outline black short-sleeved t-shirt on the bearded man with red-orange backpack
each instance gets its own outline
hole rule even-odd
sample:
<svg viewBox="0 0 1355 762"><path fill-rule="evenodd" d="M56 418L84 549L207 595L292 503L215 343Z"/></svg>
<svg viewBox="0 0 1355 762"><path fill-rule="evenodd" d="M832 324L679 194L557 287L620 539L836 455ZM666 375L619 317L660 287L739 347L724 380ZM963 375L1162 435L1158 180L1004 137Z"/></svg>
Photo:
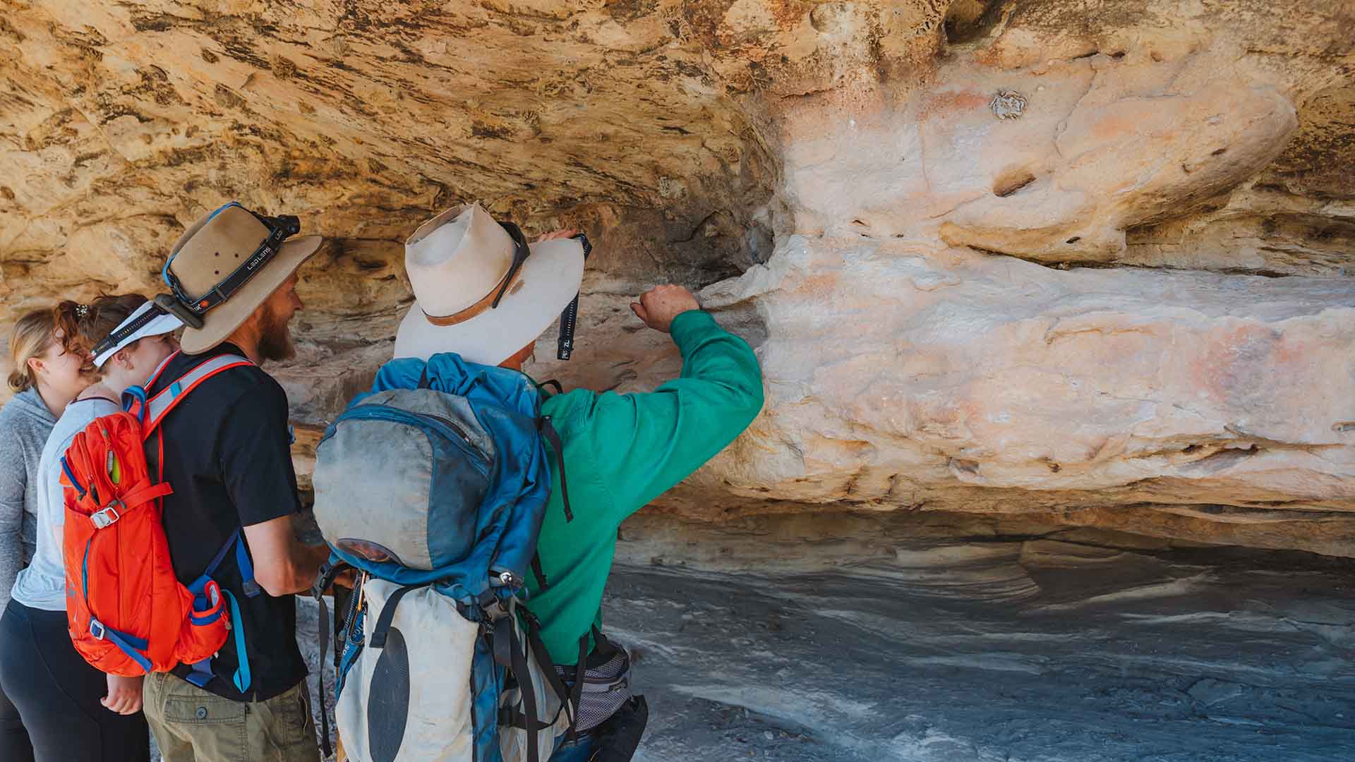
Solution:
<svg viewBox="0 0 1355 762"><path fill-rule="evenodd" d="M148 393L157 395L220 354L244 357L233 344L175 355ZM249 366L217 373L188 392L160 427L164 480L173 488L164 499L164 527L179 582L198 579L237 529L301 510L291 468L287 395L263 370ZM146 445L154 449L154 437ZM211 660L215 677L206 689L234 701L266 701L305 679L293 597L259 593L248 598L234 553L226 556L213 579L240 603L251 685L248 694L241 694L232 682L238 666L232 632ZM188 673L187 664L175 668L179 677Z"/></svg>

